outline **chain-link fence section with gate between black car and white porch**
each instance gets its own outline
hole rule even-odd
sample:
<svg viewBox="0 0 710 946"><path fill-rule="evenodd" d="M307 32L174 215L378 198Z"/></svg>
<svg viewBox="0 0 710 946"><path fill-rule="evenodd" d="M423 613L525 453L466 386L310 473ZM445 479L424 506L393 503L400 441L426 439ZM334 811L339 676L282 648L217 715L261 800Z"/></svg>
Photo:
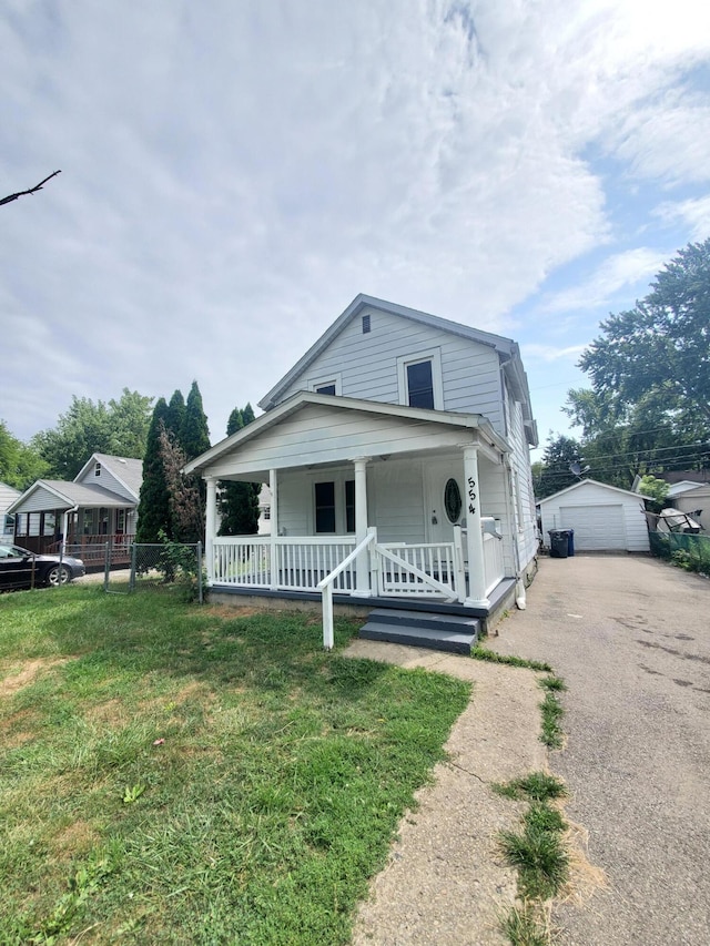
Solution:
<svg viewBox="0 0 710 946"><path fill-rule="evenodd" d="M112 568L105 549L103 589L111 594L131 594L144 589L172 589L186 601L204 600L202 542L133 542L123 568Z"/></svg>

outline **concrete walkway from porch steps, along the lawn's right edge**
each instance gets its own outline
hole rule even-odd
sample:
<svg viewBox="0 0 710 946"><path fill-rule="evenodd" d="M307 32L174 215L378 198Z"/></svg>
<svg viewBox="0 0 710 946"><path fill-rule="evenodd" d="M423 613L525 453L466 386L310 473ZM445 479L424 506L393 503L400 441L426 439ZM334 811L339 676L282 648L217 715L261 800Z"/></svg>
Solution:
<svg viewBox="0 0 710 946"><path fill-rule="evenodd" d="M456 721L434 784L404 818L387 867L359 911L355 946L503 946L499 920L516 895L516 876L496 844L518 828L525 806L501 798L491 782L545 766L538 736L542 698L529 670L399 644L355 641L346 655L422 667L469 680L471 701Z"/></svg>

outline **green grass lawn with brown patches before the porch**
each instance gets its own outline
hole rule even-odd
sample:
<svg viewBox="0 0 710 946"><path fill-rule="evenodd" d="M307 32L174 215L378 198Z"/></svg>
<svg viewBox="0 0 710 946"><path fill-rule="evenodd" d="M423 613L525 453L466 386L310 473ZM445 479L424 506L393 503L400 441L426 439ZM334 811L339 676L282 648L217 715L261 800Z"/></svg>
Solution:
<svg viewBox="0 0 710 946"><path fill-rule="evenodd" d="M1 596L0 943L347 943L469 686L321 641L169 591Z"/></svg>

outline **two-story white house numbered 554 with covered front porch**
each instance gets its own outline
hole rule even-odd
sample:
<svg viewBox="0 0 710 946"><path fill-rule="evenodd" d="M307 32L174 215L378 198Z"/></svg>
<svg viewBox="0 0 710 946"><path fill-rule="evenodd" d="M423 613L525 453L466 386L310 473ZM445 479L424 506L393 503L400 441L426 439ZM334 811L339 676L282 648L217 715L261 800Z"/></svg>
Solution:
<svg viewBox="0 0 710 946"><path fill-rule="evenodd" d="M313 592L347 560L341 594L523 599L537 430L515 342L359 295L260 406L185 466L207 482L213 588ZM225 479L267 484L270 536L216 536Z"/></svg>

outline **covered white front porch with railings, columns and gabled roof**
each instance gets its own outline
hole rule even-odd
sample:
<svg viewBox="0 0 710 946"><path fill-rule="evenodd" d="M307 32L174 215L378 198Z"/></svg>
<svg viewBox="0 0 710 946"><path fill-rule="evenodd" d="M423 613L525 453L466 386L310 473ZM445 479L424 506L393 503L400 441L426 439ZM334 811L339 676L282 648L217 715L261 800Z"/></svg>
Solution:
<svg viewBox="0 0 710 946"><path fill-rule="evenodd" d="M206 480L207 584L487 613L517 574L509 457L479 415L301 394L185 467ZM268 484L271 535L217 535L224 480Z"/></svg>

